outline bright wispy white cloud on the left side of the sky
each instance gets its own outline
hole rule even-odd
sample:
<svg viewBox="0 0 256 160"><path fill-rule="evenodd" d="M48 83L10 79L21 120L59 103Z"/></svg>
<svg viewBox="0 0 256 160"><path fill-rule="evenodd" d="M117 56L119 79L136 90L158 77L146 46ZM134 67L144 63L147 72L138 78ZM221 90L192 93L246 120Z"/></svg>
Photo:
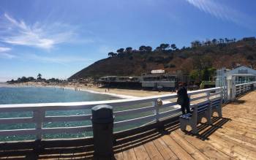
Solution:
<svg viewBox="0 0 256 160"><path fill-rule="evenodd" d="M50 49L54 45L70 42L75 37L75 28L65 23L33 23L16 20L4 13L1 25L1 42Z"/></svg>

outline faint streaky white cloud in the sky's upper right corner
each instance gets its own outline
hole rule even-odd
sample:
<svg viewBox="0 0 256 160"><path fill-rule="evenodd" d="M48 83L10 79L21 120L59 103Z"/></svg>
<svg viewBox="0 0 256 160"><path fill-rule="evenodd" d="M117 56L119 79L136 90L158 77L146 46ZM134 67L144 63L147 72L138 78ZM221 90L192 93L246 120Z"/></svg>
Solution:
<svg viewBox="0 0 256 160"><path fill-rule="evenodd" d="M240 26L245 26L246 28L251 28L252 18L249 15L245 15L243 12L228 7L225 4L218 3L213 0L186 0L189 4L192 4L197 9L206 12L216 18L227 20L236 23Z"/></svg>

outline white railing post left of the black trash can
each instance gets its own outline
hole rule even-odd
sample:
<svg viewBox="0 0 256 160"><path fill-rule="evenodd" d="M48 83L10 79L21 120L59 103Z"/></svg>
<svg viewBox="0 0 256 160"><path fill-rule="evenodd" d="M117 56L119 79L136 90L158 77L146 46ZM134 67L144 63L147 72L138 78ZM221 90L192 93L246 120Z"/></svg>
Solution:
<svg viewBox="0 0 256 160"><path fill-rule="evenodd" d="M44 110L34 110L34 121L36 123L36 129L37 129L37 140L42 140L42 123L45 118L45 111Z"/></svg>

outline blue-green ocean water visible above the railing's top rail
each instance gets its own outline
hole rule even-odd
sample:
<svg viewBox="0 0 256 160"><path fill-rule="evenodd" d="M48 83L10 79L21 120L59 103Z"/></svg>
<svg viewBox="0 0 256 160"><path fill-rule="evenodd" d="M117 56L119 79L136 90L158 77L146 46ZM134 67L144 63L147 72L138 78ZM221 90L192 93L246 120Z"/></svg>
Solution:
<svg viewBox="0 0 256 160"><path fill-rule="evenodd" d="M88 102L120 99L106 94L53 87L8 87L0 85L0 104Z"/></svg>

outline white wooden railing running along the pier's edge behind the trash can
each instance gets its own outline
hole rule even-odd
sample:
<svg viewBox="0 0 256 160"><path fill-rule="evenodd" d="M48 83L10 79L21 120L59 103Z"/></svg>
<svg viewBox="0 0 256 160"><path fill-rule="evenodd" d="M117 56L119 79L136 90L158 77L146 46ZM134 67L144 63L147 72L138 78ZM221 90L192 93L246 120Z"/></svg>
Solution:
<svg viewBox="0 0 256 160"><path fill-rule="evenodd" d="M191 104L196 104L207 99L222 96L222 88L209 88L189 92ZM34 123L31 129L0 130L0 137L11 135L36 135L41 140L44 134L78 134L91 132L91 107L98 104L109 104L114 107L114 129L123 131L161 121L181 114L180 106L176 104L176 94L162 96L148 96L132 99L118 99L98 102L67 102L67 103L42 103L42 104L1 104L0 113L30 112L30 117L0 118L0 124L13 125L20 123ZM162 99L162 106L157 105L157 99ZM87 110L88 114L82 115L48 115L48 112L69 112L74 110ZM67 123L72 121L87 121L83 126L45 127L45 123Z"/></svg>

